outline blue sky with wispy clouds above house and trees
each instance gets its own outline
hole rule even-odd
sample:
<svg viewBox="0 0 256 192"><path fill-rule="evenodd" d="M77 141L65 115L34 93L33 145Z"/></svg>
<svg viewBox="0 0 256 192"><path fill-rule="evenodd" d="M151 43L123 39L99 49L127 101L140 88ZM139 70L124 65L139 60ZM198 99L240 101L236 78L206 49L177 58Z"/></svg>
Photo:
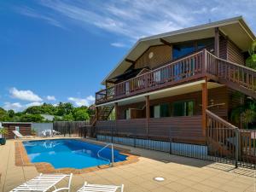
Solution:
<svg viewBox="0 0 256 192"><path fill-rule="evenodd" d="M256 1L1 0L0 107L90 105L138 38L242 15Z"/></svg>

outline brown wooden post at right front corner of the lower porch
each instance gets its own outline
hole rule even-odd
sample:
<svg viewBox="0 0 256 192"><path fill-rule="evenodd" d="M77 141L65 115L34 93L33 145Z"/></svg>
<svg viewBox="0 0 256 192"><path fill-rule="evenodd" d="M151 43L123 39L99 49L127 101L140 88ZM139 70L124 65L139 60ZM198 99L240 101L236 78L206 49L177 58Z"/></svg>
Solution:
<svg viewBox="0 0 256 192"><path fill-rule="evenodd" d="M207 79L205 83L201 84L201 111L202 111L202 132L206 136L207 131Z"/></svg>

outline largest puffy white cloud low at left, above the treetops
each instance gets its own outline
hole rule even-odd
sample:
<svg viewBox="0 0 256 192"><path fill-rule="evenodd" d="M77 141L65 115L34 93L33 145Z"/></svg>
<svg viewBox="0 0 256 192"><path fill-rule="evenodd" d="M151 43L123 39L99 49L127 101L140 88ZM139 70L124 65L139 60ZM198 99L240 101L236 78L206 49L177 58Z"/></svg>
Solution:
<svg viewBox="0 0 256 192"><path fill-rule="evenodd" d="M42 102L43 99L32 92L32 90L17 90L15 87L9 90L13 98L28 101L28 102Z"/></svg>

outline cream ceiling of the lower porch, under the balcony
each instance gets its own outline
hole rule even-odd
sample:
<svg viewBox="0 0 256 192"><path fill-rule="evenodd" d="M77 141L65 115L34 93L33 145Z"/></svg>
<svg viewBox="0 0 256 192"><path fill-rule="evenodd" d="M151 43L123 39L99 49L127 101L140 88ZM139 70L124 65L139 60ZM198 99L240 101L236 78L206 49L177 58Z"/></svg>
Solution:
<svg viewBox="0 0 256 192"><path fill-rule="evenodd" d="M156 91L153 91L150 93L145 93L145 94L142 94L139 96L131 96L131 97L128 97L125 99L120 99L120 100L114 101L114 102L118 102L119 106L122 106L122 105L127 105L130 103L143 102L143 101L145 101L145 96L149 96L149 99L153 100L153 99L164 98L167 96L178 96L178 95L182 95L182 94L192 93L192 92L200 91L201 84L204 82L205 82L205 80L200 80L200 81L196 81L196 82L189 83L189 84L182 84L182 85L178 85L175 87L166 88L164 90L156 90ZM213 83L213 82L207 83L207 89L213 89L213 88L217 88L217 87L221 87L221 86L224 86L224 85ZM108 103L104 103L104 104L101 104L98 106L114 105L114 102L108 102Z"/></svg>

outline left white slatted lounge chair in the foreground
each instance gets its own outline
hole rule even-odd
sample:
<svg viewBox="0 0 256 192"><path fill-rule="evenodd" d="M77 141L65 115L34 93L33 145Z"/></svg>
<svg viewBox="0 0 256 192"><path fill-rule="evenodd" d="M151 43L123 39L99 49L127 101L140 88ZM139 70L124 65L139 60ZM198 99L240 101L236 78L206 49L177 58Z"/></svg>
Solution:
<svg viewBox="0 0 256 192"><path fill-rule="evenodd" d="M66 188L59 188L56 189L55 185L59 183L65 177L69 177L68 185ZM53 192L67 190L70 191L70 185L72 180L73 174L64 175L64 174L40 174L38 177L34 177L26 183L21 184L19 187L12 189L10 192L18 192L18 191L40 191L45 192L51 188L55 190Z"/></svg>

